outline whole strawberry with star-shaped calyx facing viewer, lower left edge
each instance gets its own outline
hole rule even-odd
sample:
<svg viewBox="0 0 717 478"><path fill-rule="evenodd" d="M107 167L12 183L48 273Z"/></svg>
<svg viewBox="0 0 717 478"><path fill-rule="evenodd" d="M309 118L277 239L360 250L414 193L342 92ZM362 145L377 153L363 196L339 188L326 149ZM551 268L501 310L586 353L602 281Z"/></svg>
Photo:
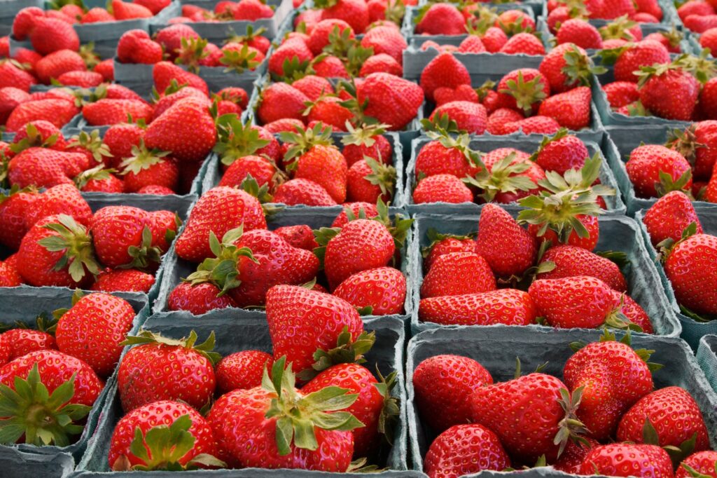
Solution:
<svg viewBox="0 0 717 478"><path fill-rule="evenodd" d="M0 402L13 423L2 427L4 440L35 446L70 445L104 386L89 365L57 350L7 363L0 368L0 383Z"/></svg>

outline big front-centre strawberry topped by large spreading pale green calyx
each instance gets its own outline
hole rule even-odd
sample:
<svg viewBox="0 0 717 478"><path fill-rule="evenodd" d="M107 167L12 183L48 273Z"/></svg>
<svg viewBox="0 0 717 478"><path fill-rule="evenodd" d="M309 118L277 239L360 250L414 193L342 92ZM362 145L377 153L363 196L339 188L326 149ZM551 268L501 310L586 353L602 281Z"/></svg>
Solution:
<svg viewBox="0 0 717 478"><path fill-rule="evenodd" d="M295 388L295 375L285 367L285 357L277 360L271 372L272 383L265 372L261 387L234 390L223 395L209 411L207 420L219 445L219 456L236 461L244 467L301 468L326 472L345 472L351 464L353 435L350 431L361 426L345 410L356 401L356 395L344 395L346 389L324 388L320 393L305 395ZM273 385L276 383L277 385ZM324 397L331 391L331 401ZM342 398L344 397L344 398ZM289 402L285 403L285 400ZM267 414L272 403L279 412ZM288 403L298 408L285 413ZM329 405L331 403L331 405ZM333 413L327 413L326 409ZM288 422L287 422L288 421ZM326 430L320 423L331 421ZM308 434L305 439L280 440L278 423L298 426L302 423ZM244 446L257 444L256 448Z"/></svg>

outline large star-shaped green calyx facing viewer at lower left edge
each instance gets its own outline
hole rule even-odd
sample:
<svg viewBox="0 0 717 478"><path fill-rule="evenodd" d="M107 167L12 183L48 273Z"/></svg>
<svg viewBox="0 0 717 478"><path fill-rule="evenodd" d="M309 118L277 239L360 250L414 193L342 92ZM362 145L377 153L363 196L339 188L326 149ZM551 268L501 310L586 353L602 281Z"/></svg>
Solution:
<svg viewBox="0 0 717 478"><path fill-rule="evenodd" d="M14 389L0 384L0 443L14 444L24 435L27 444L70 445L82 433L77 422L90 413L90 407L71 403L75 375L49 393L34 364L26 379L14 378Z"/></svg>

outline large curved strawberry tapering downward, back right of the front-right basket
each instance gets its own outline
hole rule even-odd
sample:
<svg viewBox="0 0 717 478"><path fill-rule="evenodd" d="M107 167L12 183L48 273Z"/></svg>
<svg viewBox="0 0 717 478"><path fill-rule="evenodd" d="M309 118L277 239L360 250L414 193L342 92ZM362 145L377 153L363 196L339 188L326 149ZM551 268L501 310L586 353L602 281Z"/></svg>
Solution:
<svg viewBox="0 0 717 478"><path fill-rule="evenodd" d="M565 363L563 378L571 391L584 387L577 416L596 440L612 436L622 414L653 388L647 363L620 342L578 350Z"/></svg>

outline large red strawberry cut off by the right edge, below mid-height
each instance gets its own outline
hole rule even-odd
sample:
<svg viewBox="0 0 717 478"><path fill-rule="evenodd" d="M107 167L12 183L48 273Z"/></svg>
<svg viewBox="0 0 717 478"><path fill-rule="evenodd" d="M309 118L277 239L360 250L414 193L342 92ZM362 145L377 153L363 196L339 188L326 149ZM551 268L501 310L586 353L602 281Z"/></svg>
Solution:
<svg viewBox="0 0 717 478"><path fill-rule="evenodd" d="M717 313L713 271L717 270L717 238L696 234L678 243L665 261L678 303L697 314Z"/></svg>

